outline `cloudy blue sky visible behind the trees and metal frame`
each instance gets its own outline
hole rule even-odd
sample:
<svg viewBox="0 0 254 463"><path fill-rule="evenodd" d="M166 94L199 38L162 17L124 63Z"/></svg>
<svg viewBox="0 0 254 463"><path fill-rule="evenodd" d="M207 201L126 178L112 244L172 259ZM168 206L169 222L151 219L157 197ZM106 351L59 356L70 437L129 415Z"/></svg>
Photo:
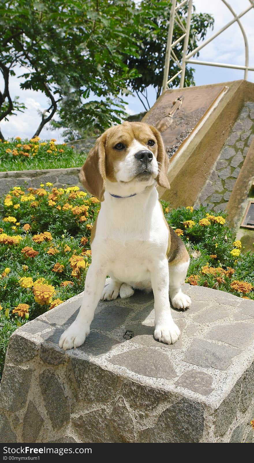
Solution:
<svg viewBox="0 0 254 463"><path fill-rule="evenodd" d="M228 3L236 13L242 12L250 5L249 0L228 0ZM193 4L196 7L197 12L211 13L214 16L214 31L209 31L207 37L210 37L214 32L221 29L223 25L233 18L222 0L194 0ZM254 67L254 9L243 16L241 18L241 22L245 28L248 38L249 65ZM243 65L245 62L245 49L242 32L240 31L239 26L235 23L234 25L231 25L229 29L222 32L221 35L200 51L198 59L203 61ZM243 79L244 75L243 70L193 64L191 66L195 69L196 85ZM19 69L17 71L19 71ZM248 81L254 82L254 71L248 72ZM20 79L18 79L18 76L11 77L10 83L12 97L18 95L19 99L25 103L27 109L25 110L25 113L19 113L17 116L12 116L9 119L9 122L2 122L1 130L6 138L13 136L16 137L18 135L22 138L30 138L39 125L40 116L37 111L43 111L46 107L48 107L48 100L40 92L21 90L19 88ZM1 79L0 88L2 88ZM149 88L148 96L150 106L152 106L155 102L154 88ZM143 106L136 96L130 95L125 100L128 103L128 106L126 107L128 113L135 114L143 111ZM40 137L56 138L58 142L62 141L60 131L51 129L47 130L46 128L43 129Z"/></svg>

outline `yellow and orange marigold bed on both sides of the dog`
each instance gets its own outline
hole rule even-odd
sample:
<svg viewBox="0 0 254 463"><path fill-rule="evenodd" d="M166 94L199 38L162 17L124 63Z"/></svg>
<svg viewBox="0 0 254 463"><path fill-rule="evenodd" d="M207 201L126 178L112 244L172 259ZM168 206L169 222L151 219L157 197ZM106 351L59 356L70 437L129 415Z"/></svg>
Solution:
<svg viewBox="0 0 254 463"><path fill-rule="evenodd" d="M254 299L254 254L241 252L225 215L162 205L191 255L186 282ZM14 187L0 200L0 371L18 326L83 290L99 206L78 187L51 183Z"/></svg>

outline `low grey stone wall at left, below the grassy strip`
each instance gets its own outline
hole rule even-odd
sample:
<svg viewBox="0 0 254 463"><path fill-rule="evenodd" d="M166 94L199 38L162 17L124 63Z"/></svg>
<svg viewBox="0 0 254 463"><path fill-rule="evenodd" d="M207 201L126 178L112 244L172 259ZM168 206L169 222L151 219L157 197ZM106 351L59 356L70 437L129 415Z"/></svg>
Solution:
<svg viewBox="0 0 254 463"><path fill-rule="evenodd" d="M41 170L13 170L0 172L0 195L8 193L13 187L39 188L41 183L50 181L54 187L70 187L78 185L80 168L70 169L41 169Z"/></svg>

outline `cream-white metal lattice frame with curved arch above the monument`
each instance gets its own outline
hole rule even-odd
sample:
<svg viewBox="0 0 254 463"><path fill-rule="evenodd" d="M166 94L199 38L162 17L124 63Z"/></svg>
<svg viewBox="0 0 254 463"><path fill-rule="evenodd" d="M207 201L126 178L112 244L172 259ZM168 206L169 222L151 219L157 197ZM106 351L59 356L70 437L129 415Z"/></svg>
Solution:
<svg viewBox="0 0 254 463"><path fill-rule="evenodd" d="M205 66L218 66L222 68L232 68L232 69L243 69L244 70L244 79L247 79L248 77L248 70L249 71L254 71L254 67L249 67L249 48L248 48L248 39L246 36L246 33L244 31L244 28L242 26L242 23L240 21L240 18L246 13L248 13L252 8L254 8L254 0L248 0L250 5L248 8L242 11L240 14L236 14L233 8L229 5L229 3L226 0L221 0L223 1L224 5L229 8L229 11L233 14L234 18L231 19L226 25L224 25L219 31L215 32L210 38L207 40L204 40L202 44L200 44L198 47L196 47L194 50L192 50L190 53L187 54L188 50L188 44L189 44L189 35L190 35L190 25L191 25L191 17L192 17L192 0L184 0L178 2L178 0L172 0L172 6L171 6L171 11L170 11L170 19L169 19L169 27L168 27L168 34L167 34L167 47L166 47L166 56L165 56L165 66L164 66L164 74L163 74L163 83L162 83L162 92L165 90L168 90L168 84L172 82L178 75L181 75L180 77L180 88L184 87L184 80L185 80L185 70L186 70L186 64L191 63L191 64L203 64ZM188 6L188 12L187 12L187 19L186 19L186 25L184 25L178 15L178 10L180 7L187 5ZM205 45L209 44L214 38L216 38L219 34L221 34L223 31L225 31L230 25L234 24L237 21L241 31L242 31L242 36L244 39L244 44L245 44L245 64L244 66L240 66L237 64L226 64L226 63L213 63L211 61L199 61L199 60L194 60L192 59L192 56L194 56L199 50L205 47ZM183 34L172 43L173 40L173 29L174 29L174 24L177 23L180 27L180 29L183 31ZM184 39L184 46L183 46L183 57L182 57L182 63L179 63L173 48L176 44L178 44L181 40ZM179 71L171 77L171 79L168 79L168 72L169 72L169 65L170 65L170 60L173 60L174 63L176 63L179 67Z"/></svg>

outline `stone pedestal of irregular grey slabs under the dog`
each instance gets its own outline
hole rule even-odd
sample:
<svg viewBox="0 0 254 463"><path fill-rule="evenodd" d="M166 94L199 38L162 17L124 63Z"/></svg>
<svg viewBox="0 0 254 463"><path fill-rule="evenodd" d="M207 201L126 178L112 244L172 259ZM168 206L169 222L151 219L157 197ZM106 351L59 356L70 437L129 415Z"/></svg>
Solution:
<svg viewBox="0 0 254 463"><path fill-rule="evenodd" d="M82 294L13 333L2 442L253 442L254 301L185 285L179 341L153 338L153 296L100 302L79 349L58 347Z"/></svg>

